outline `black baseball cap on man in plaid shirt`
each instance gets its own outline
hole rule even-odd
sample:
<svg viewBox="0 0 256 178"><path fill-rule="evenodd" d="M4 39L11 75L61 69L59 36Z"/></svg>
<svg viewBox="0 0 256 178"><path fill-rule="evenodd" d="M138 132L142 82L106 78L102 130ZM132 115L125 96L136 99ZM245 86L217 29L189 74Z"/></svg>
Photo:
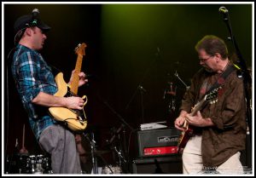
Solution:
<svg viewBox="0 0 256 178"><path fill-rule="evenodd" d="M39 18L34 19L32 17L32 14L26 14L20 16L16 21L15 21L15 34L19 32L20 30L26 29L26 27L31 27L31 26L38 26L43 32L49 31L50 27L46 25L42 20Z"/></svg>

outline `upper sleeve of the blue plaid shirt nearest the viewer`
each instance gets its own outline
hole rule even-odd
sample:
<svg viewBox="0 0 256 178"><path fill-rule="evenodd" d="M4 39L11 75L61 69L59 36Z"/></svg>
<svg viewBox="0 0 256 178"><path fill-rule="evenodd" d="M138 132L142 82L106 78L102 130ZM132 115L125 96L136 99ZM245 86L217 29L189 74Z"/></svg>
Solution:
<svg viewBox="0 0 256 178"><path fill-rule="evenodd" d="M54 95L56 92L54 77L42 56L26 52L19 58L16 72L18 72L17 80L22 101L31 102L40 91Z"/></svg>

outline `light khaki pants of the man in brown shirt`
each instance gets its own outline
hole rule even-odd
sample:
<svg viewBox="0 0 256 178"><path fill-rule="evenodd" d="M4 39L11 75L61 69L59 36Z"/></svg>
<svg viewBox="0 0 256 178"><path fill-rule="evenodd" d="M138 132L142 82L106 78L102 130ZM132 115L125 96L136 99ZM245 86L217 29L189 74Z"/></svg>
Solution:
<svg viewBox="0 0 256 178"><path fill-rule="evenodd" d="M183 174L243 174L240 152L236 152L216 170L203 170L201 158L201 135L191 137L183 150ZM212 168L213 169L213 168Z"/></svg>

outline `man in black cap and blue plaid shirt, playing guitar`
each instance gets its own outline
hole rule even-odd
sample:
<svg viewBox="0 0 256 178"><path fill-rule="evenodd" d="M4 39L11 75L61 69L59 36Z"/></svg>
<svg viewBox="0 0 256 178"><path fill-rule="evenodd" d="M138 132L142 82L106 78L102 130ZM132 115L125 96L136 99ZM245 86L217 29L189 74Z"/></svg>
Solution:
<svg viewBox="0 0 256 178"><path fill-rule="evenodd" d="M84 100L80 97L55 96L55 77L38 50L43 49L45 32L50 27L39 18L38 9L20 16L15 21L15 48L12 73L20 100L28 114L32 132L41 148L51 155L54 174L80 174L81 167L74 134L49 115L49 107L67 107L81 110ZM71 78L72 80L72 78ZM84 72L79 73L83 85Z"/></svg>

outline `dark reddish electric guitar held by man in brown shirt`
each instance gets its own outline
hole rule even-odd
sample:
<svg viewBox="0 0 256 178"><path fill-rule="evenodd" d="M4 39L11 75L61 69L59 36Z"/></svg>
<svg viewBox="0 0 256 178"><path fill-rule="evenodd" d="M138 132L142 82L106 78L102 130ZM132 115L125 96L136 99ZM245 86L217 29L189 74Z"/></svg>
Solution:
<svg viewBox="0 0 256 178"><path fill-rule="evenodd" d="M217 96L218 96L218 90L221 89L221 87L218 87L217 89L213 89L212 92L205 95L202 100L200 100L191 110L191 113L189 115L195 116L195 113L200 111L203 106L206 106L207 103L213 104L217 102ZM193 128L189 126L189 123L185 120L183 123L184 131L179 137L178 143L177 143L177 152L182 153L184 147L186 146L187 142L189 141L189 138L193 135Z"/></svg>

